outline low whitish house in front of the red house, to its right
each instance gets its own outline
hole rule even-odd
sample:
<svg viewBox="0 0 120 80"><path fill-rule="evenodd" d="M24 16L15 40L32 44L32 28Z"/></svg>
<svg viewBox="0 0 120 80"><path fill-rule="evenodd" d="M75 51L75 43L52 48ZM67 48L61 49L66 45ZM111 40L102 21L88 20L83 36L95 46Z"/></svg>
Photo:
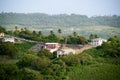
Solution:
<svg viewBox="0 0 120 80"><path fill-rule="evenodd" d="M73 49L60 49L57 51L57 58L62 56L62 55L67 55L67 54L75 54L75 50Z"/></svg>

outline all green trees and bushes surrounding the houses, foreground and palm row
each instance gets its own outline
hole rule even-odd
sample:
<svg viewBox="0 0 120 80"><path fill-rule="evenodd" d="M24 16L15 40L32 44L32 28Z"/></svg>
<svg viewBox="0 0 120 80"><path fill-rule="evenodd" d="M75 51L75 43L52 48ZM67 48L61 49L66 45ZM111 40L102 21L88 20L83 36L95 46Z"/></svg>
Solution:
<svg viewBox="0 0 120 80"><path fill-rule="evenodd" d="M38 41L61 42L69 44L86 44L84 36L73 35L62 37L51 30L48 36L41 31L31 32L24 28L14 36ZM8 31L6 31L8 33ZM97 35L91 34L91 38ZM84 51L81 54L63 55L56 58L49 50L32 52L29 49L34 43L2 43L0 42L0 79L1 80L119 80L120 79L120 40L111 37L102 46ZM14 57L15 56L15 57ZM3 57L3 58L2 58ZM8 61L8 62L7 62Z"/></svg>

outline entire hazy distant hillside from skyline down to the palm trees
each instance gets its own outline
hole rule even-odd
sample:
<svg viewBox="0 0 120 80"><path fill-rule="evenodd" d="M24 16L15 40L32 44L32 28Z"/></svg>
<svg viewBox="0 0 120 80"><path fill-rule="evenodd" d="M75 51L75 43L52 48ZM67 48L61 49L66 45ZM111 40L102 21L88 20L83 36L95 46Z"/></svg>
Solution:
<svg viewBox="0 0 120 80"><path fill-rule="evenodd" d="M120 16L117 15L87 17L77 14L0 13L0 25L10 30L15 26L28 27L36 31L41 30L45 34L48 34L50 30L57 33L59 28L62 29L63 35L74 31L84 36L91 33L103 37L120 34Z"/></svg>

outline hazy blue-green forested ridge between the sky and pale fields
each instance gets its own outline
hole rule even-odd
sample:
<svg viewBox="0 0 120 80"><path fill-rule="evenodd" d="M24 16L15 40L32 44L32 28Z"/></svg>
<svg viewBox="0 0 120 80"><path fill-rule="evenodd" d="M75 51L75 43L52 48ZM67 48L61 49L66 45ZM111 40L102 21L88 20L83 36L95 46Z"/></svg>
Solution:
<svg viewBox="0 0 120 80"><path fill-rule="evenodd" d="M112 26L120 27L120 16L87 17L76 14L48 15L42 13L0 13L0 25L20 25L31 27L79 27Z"/></svg>

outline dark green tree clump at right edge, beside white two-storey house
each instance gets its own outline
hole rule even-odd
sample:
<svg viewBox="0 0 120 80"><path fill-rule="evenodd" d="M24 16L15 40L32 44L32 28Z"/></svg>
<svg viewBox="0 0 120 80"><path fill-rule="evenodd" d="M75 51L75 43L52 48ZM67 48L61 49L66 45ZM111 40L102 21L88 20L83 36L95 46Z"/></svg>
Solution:
<svg viewBox="0 0 120 80"><path fill-rule="evenodd" d="M102 46L97 47L102 51L102 56L119 57L120 56L120 40L117 37L111 37L108 42L104 42Z"/></svg>

